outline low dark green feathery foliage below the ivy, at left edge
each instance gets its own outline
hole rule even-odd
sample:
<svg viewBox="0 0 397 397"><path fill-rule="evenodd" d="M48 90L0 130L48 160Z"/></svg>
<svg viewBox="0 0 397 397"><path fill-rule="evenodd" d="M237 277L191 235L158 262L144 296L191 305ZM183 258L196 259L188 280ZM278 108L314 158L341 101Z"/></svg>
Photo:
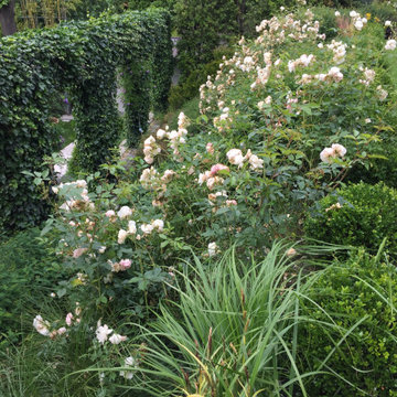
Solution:
<svg viewBox="0 0 397 397"><path fill-rule="evenodd" d="M0 345L30 332L32 313L47 304L63 271L39 236L39 228L28 229L0 245Z"/></svg>

